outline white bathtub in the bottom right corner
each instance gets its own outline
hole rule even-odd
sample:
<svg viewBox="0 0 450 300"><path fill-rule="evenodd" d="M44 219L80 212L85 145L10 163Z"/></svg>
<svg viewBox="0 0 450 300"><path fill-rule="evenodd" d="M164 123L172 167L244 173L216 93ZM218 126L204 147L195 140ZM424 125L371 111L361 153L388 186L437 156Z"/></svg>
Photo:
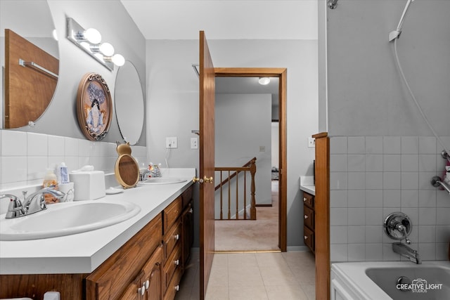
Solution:
<svg viewBox="0 0 450 300"><path fill-rule="evenodd" d="M333 263L330 289L331 300L450 299L450 262Z"/></svg>

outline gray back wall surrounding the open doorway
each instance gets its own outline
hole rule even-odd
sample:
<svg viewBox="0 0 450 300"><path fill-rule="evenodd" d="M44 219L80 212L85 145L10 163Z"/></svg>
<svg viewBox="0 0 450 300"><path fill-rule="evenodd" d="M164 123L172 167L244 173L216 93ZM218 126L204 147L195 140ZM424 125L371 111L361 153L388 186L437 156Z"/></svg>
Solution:
<svg viewBox="0 0 450 300"><path fill-rule="evenodd" d="M314 148L307 147L307 138L318 128L317 40L231 39L209 40L208 44L215 67L288 69L288 247L301 247L299 177L312 176ZM198 150L190 149L195 136L191 130L198 129L199 84L191 67L198 63L198 47L198 41L192 40L147 41L147 141L153 162L164 164L165 137L177 136L179 148L169 153L169 166L198 168ZM198 208L198 200L194 204Z"/></svg>

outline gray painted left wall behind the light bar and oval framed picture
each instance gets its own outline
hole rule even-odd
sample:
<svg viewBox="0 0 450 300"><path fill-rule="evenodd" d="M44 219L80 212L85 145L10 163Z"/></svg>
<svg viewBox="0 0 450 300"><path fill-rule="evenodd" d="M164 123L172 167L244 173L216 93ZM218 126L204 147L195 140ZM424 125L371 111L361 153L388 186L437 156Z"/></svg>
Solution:
<svg viewBox="0 0 450 300"><path fill-rule="evenodd" d="M146 85L145 39L118 0L108 1L107 11L105 11L105 1L49 0L47 2L59 37L60 77L53 100L44 115L36 122L36 126L18 130L84 138L78 126L75 105L79 81L88 72L101 74L110 88L114 103L117 67L111 72L66 39L66 18L74 18L83 27L94 27L99 30L103 41L113 44L116 53L121 53L124 58L134 63L143 89ZM114 20L120 20L120 22ZM108 135L102 141L122 141L115 112L113 112ZM138 145L146 145L146 126L143 127Z"/></svg>

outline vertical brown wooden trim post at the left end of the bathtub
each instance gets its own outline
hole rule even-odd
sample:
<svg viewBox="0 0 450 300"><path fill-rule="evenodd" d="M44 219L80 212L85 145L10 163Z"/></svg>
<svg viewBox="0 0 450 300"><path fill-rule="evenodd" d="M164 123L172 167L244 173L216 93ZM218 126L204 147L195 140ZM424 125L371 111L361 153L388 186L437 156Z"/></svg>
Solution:
<svg viewBox="0 0 450 300"><path fill-rule="evenodd" d="M326 132L312 137L316 138L316 299L330 299L330 138Z"/></svg>

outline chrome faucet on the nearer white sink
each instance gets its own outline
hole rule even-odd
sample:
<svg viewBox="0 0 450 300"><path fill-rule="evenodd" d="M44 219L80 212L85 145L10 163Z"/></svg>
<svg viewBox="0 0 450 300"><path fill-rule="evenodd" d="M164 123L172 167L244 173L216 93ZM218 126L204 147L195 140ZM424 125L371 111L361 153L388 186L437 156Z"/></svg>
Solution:
<svg viewBox="0 0 450 300"><path fill-rule="evenodd" d="M11 199L11 202L9 202L8 211L6 212L6 219L18 218L20 216L27 216L38 211L43 211L47 208L45 204L45 194L51 194L59 200L62 200L65 196L65 193L60 192L59 190L53 190L51 187L42 188L28 197L25 197L26 194L26 192L23 192L23 203L20 202L20 199L15 197L15 195L0 195L0 198L9 197Z"/></svg>

